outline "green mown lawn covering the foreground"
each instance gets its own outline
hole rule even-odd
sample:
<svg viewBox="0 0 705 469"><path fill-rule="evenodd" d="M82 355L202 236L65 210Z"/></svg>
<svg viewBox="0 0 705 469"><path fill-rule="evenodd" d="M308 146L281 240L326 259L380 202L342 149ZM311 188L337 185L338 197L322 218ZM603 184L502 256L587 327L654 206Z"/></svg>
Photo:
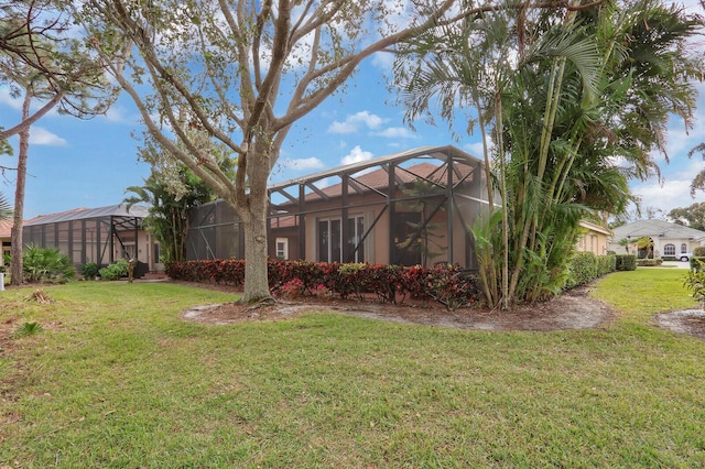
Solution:
<svg viewBox="0 0 705 469"><path fill-rule="evenodd" d="M701 467L705 342L652 325L683 272L600 280L606 328L487 332L312 314L185 323L226 294L83 282L0 294L0 467ZM0 342L0 348L3 343Z"/></svg>

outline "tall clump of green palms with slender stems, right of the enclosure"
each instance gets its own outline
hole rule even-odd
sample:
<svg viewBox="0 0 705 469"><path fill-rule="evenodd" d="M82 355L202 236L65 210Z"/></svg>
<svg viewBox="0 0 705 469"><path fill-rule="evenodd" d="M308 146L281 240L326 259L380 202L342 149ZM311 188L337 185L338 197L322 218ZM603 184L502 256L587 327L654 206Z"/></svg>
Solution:
<svg viewBox="0 0 705 469"><path fill-rule="evenodd" d="M413 59L398 65L411 62L415 70L399 74L411 119L436 97L444 118L457 105L474 106L470 127L494 127L491 181L502 221L478 233L501 241L478 249L495 250L480 253L489 262L480 276L488 303L501 307L562 287L581 218L625 210L629 178L658 172L650 151L664 151L669 112L691 118L697 72L683 44L698 21L675 7L643 0L565 12L512 4L462 31L427 34L410 46ZM614 165L616 156L628 165Z"/></svg>

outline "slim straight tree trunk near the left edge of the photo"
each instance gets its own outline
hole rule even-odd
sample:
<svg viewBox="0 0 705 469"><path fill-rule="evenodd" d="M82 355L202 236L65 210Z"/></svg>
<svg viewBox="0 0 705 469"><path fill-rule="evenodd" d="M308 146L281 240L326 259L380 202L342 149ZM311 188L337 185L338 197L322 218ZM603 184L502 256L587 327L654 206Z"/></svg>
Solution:
<svg viewBox="0 0 705 469"><path fill-rule="evenodd" d="M24 101L22 102L22 120L30 116L30 103L32 102L32 91L24 90ZM11 285L21 285L24 282L24 266L22 264L22 218L24 216L24 184L26 181L26 160L30 152L30 127L26 126L20 132L20 154L18 155L18 182L14 187L14 219L10 232L12 248L12 266L10 269Z"/></svg>

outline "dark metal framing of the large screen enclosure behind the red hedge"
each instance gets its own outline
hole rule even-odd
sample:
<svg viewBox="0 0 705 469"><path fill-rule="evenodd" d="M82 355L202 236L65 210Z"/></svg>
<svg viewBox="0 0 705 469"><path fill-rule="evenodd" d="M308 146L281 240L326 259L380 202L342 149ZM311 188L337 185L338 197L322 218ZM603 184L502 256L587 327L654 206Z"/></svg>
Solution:
<svg viewBox="0 0 705 469"><path fill-rule="evenodd" d="M354 252L365 242L367 237L370 236L379 220L389 215L389 225L393 225L394 211L398 204L408 203L411 199L417 199L419 196L410 197L400 193L400 184L404 179L403 172L408 172L404 164L415 161L427 161L437 165L437 170L434 170L435 175L429 176L427 179L431 184L436 184L438 177L445 177L446 184L442 190L431 194L429 197L442 198L442 204L445 204L444 211L447 212L447 227L446 227L446 240L447 240L447 263L457 263L468 269L475 269L476 259L474 255L474 240L469 232L469 227L473 225L475 217L480 211L487 210L489 201L487 197L487 184L485 178L484 162L469 153L466 153L453 145L445 146L422 146L413 150L408 150L399 153L393 153L386 156L376 157L372 160L354 163L346 166L340 166L332 170L322 171L315 174L306 175L303 177L293 178L290 181L272 184L269 187L270 196L270 211L268 216L268 240L270 255L274 257L275 248L274 243L276 238L273 233L281 230L282 226L286 226L290 232L296 232L295 249L296 252L294 259L312 259L316 253L307 253L306 251L306 217L315 217L325 210L329 211L330 207L324 209L312 208L314 205L311 199L316 200L339 200L336 209L339 212L341 220L348 219L348 212L352 209L359 209L359 205L351 205L350 199L360 194L377 194L380 200L383 200L383 209L377 214L372 223L369 227L365 227L365 233L355 247L348 246L344 242L341 246L343 261L349 261L354 258ZM386 187L372 187L365 185L360 182L360 178L365 179L365 174L372 172L373 170L382 170L387 174ZM340 181L340 194L329 196L326 194L325 181L335 178ZM408 176L406 176L408 178ZM408 183L409 181L406 181ZM436 184L437 185L437 184ZM440 185L438 185L440 187ZM464 192L459 189L463 188ZM469 192L468 192L469 189ZM470 203L475 210L469 212L463 212L459 209L458 204ZM375 203L377 206L380 201ZM192 255L189 259L220 259L217 250L214 249L213 240L208 240L204 234L203 228L214 229L213 237L215 239L215 229L218 227L234 227L237 230L237 253L229 255L230 258L243 258L243 231L242 223L237 219L237 216L231 210L223 210L218 205L225 205L223 200L204 204L195 209L192 216L192 229L189 231L189 250ZM308 205L308 207L307 207ZM208 214L228 211L230 215L228 219L221 217L207 216ZM203 220L208 219L207 223ZM284 222L283 222L284 221ZM427 223L429 220L424 220ZM465 234L466 240L464 252L455 252L455 240L457 236L456 223L462 223L462 232ZM348 223L341 222L341 238L348 239L349 233ZM393 230L389 230L388 242L390 258L394 251L393 244L397 244L393 239ZM202 248L196 248L195 243L199 242ZM216 241L217 242L217 241ZM203 251L203 244L205 244L205 255L198 255L198 251ZM352 252L350 252L352 250ZM469 252L471 250L473 252ZM195 254L195 255L194 255ZM389 259L387 262L381 263L397 263L394 259Z"/></svg>

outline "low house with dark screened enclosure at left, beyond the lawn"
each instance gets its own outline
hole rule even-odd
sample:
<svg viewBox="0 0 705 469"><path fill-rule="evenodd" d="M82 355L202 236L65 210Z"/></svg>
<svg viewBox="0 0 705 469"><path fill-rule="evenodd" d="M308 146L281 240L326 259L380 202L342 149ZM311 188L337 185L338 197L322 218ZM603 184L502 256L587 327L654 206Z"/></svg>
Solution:
<svg viewBox="0 0 705 469"><path fill-rule="evenodd" d="M106 266L119 259L137 258L139 270L160 271L159 243L142 229L145 207L124 205L77 208L43 215L24 222L22 241L40 248L58 248L73 264L95 262Z"/></svg>

